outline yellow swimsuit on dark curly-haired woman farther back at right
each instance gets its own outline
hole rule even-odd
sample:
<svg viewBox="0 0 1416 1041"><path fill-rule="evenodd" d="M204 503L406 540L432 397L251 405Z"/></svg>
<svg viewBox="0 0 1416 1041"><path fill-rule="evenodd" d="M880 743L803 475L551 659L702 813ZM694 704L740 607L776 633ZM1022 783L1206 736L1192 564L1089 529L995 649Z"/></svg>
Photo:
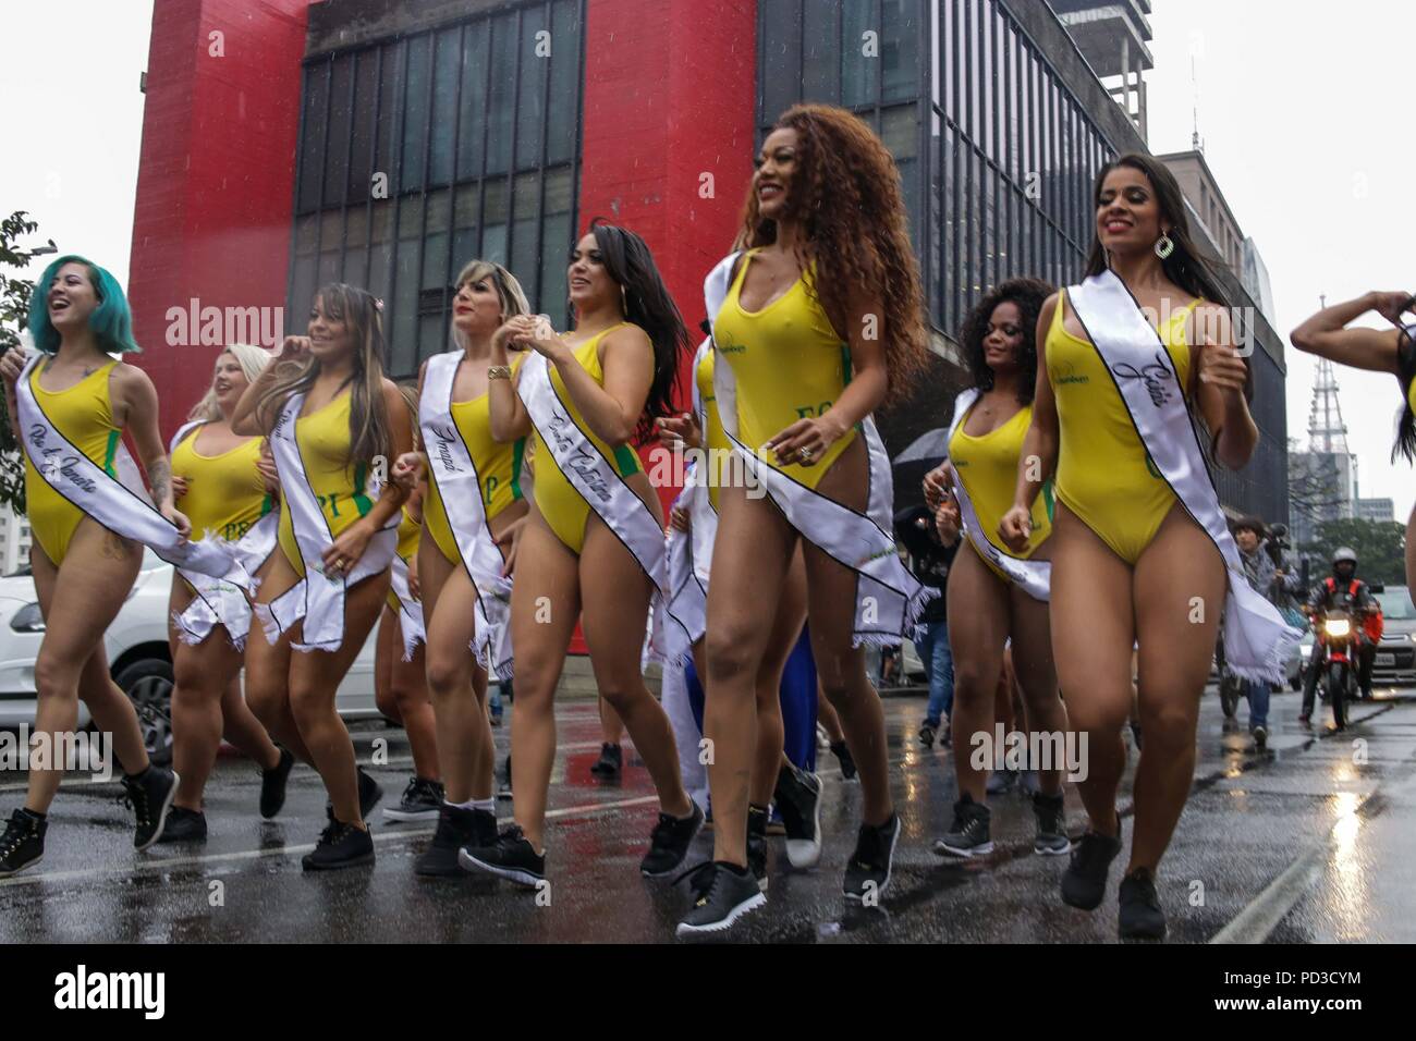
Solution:
<svg viewBox="0 0 1416 1041"><path fill-rule="evenodd" d="M1022 559L1032 557L1052 534L1052 484L1049 482L1042 486L1042 494L1032 504L1032 534L1028 537L1028 548L1017 554L1004 547L1003 540L998 538L998 524L1003 521L1003 514L1012 508L1012 496L1018 484L1018 456L1022 455L1022 439L1027 436L1031 422L1032 405L1024 405L997 429L974 438L964 433L964 426L969 425L966 415L954 431L954 436L949 439L949 462L954 467L954 477L963 483L969 493L969 501L973 503L974 513L978 516L984 538L998 552ZM973 542L969 544L969 548L973 550ZM987 557L978 554L978 559L987 564L990 571L1004 582L1010 581Z"/></svg>

